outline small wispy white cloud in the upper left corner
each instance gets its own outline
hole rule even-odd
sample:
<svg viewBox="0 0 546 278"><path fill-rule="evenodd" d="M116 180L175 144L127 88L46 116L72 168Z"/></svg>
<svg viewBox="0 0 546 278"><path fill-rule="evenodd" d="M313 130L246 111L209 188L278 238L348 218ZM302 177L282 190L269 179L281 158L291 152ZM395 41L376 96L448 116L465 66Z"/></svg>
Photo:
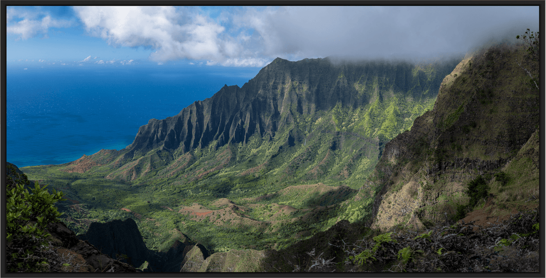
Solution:
<svg viewBox="0 0 546 278"><path fill-rule="evenodd" d="M6 31L19 35L17 39L29 39L38 35L48 38L49 28L67 28L74 25L74 20L57 20L49 13L26 11L20 7L9 7L6 11ZM22 18L12 22L15 17Z"/></svg>

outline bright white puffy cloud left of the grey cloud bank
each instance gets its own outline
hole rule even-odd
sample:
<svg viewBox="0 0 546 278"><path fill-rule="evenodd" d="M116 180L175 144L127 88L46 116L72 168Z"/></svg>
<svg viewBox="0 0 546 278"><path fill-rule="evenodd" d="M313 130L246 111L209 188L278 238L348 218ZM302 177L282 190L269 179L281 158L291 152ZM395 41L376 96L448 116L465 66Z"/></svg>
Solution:
<svg viewBox="0 0 546 278"><path fill-rule="evenodd" d="M187 58L224 64L244 55L238 40L219 23L198 14L198 9L79 6L74 10L93 36L114 46L152 48L152 61Z"/></svg>

